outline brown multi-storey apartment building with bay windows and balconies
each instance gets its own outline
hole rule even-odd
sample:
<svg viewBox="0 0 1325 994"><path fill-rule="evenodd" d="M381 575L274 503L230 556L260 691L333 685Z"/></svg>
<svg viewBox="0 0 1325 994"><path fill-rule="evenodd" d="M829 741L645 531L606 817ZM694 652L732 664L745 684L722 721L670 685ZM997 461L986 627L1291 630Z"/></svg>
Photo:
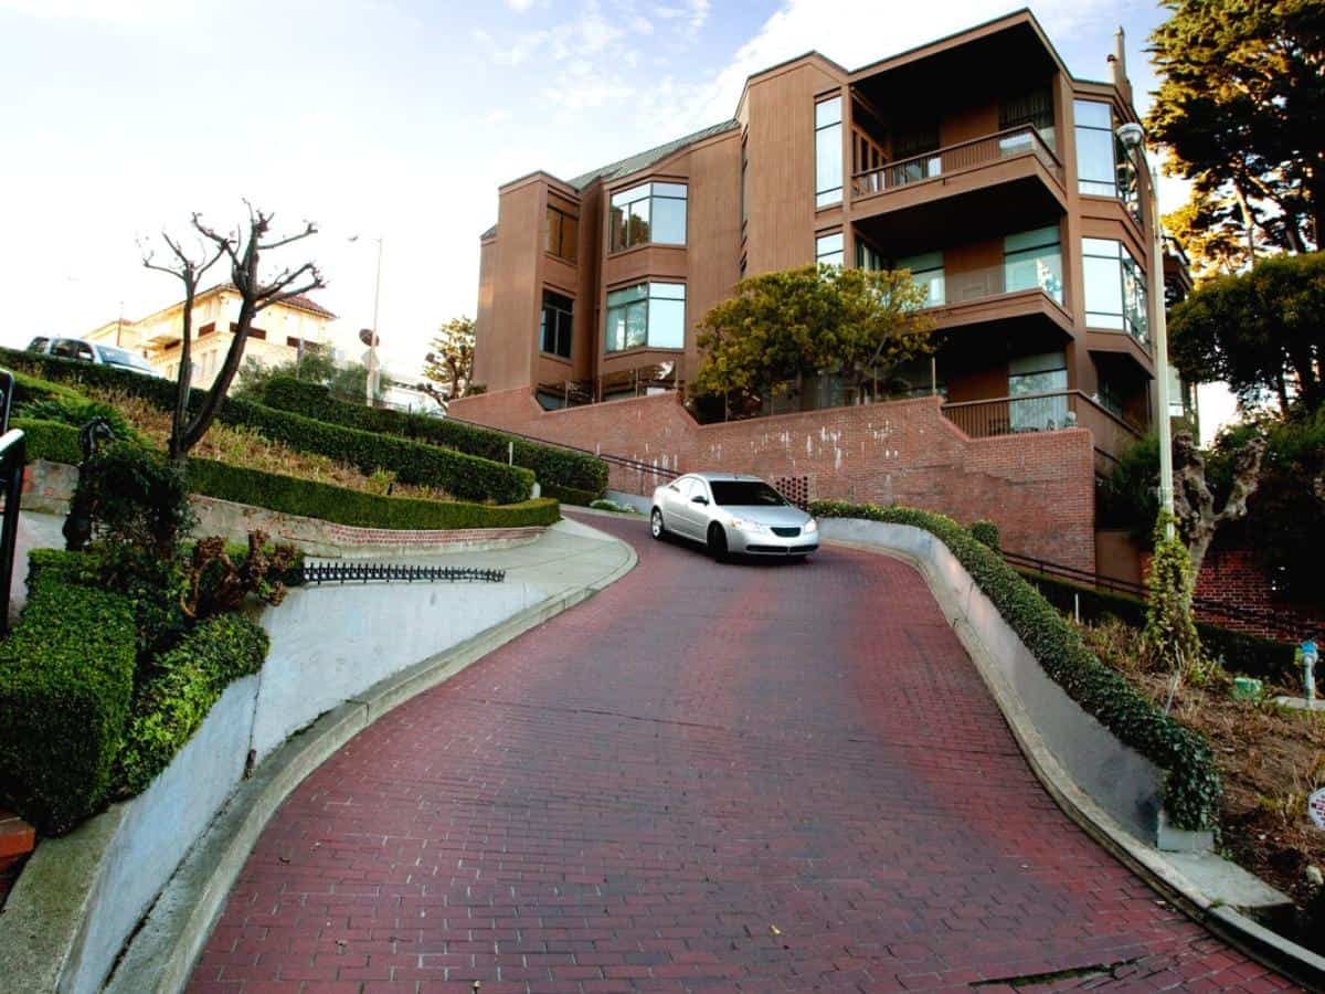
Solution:
<svg viewBox="0 0 1325 994"><path fill-rule="evenodd" d="M742 277L906 268L934 360L877 395L824 376L766 412L938 395L969 439L1088 428L1106 469L1154 417L1163 306L1146 290L1150 179L1116 137L1137 121L1121 32L1108 64L1109 80L1073 77L1028 11L855 70L811 52L751 76L730 121L502 186L476 382L543 411L676 390L701 360L697 322ZM519 403L514 420L496 402L456 414L592 447Z"/></svg>

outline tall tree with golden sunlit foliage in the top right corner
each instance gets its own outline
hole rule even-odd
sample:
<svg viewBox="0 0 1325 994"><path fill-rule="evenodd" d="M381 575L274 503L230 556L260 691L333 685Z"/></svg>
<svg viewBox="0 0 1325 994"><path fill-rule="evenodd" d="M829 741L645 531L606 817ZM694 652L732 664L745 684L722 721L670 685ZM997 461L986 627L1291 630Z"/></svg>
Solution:
<svg viewBox="0 0 1325 994"><path fill-rule="evenodd" d="M1162 0L1147 126L1207 223L1288 252L1320 245L1325 211L1325 4ZM1208 229L1208 228L1207 228ZM1198 243L1185 245L1189 254Z"/></svg>

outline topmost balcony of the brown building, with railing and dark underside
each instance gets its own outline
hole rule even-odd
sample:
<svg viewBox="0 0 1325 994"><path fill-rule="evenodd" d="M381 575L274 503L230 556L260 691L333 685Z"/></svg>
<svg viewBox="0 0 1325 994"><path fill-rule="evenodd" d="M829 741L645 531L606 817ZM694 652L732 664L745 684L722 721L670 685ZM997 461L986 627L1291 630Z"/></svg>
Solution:
<svg viewBox="0 0 1325 994"><path fill-rule="evenodd" d="M880 248L905 253L1047 223L1067 211L1064 183L1063 163L1027 125L855 174L851 216L886 219Z"/></svg>

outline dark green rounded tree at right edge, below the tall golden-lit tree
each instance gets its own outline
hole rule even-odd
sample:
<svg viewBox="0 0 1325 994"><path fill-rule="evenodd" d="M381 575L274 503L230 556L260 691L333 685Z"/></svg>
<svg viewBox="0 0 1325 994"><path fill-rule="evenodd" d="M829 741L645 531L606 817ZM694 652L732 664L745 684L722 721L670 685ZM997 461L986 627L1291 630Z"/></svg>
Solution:
<svg viewBox="0 0 1325 994"><path fill-rule="evenodd" d="M1190 380L1224 380L1244 410L1325 403L1325 252L1276 256L1203 284L1174 307L1169 351Z"/></svg>

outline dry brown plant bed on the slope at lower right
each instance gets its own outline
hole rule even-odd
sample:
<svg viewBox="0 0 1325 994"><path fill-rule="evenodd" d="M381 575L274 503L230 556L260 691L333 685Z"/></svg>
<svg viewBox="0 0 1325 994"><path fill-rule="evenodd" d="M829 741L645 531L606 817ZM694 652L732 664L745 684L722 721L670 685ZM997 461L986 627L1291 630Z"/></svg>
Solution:
<svg viewBox="0 0 1325 994"><path fill-rule="evenodd" d="M1136 628L1101 620L1080 630L1101 661L1163 706L1170 675L1140 661ZM1298 687L1265 681L1264 692L1259 701L1234 700L1231 675L1216 669L1204 683L1179 687L1170 713L1210 741L1223 782L1220 851L1293 900L1264 924L1325 953L1325 888L1306 879L1309 865L1325 869L1325 830L1306 816L1306 798L1325 786L1325 714L1272 702L1301 693Z"/></svg>

